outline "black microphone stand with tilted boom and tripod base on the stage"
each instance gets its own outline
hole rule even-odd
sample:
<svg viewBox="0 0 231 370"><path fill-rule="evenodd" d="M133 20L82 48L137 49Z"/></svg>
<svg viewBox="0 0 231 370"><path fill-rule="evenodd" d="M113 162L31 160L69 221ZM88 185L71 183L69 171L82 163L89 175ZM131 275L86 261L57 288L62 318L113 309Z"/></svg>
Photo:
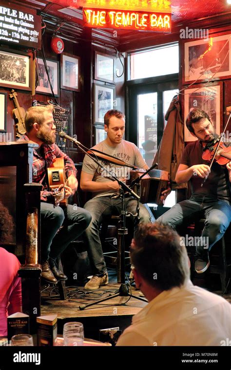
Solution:
<svg viewBox="0 0 231 370"><path fill-rule="evenodd" d="M139 204L140 197L128 185L126 185L122 181L120 181L116 177L114 172L109 171L106 167L104 167L101 163L99 163L99 161L96 158L93 158L89 153L87 153L87 151L82 148L83 145L80 142L78 142L76 139L72 138L71 136L67 135L63 131L60 132L60 136L65 137L66 139L71 140L73 143L75 143L76 146L82 152L84 152L86 155L88 155L98 166L103 168L106 171L106 173L108 173L121 186L121 188L120 188L120 198L121 198L122 206L121 206L121 212L120 212L120 228L118 229L118 254L117 254L117 258L119 259L118 263L121 267L121 276L120 276L121 285L120 285L116 294L109 295L106 298L99 299L99 300L97 300L96 302L93 302L93 303L83 304L83 305L79 306L79 310L85 310L85 308L87 308L87 307L93 306L97 303L101 303L101 302L104 302L104 301L112 299L112 298L116 298L118 296L130 296L130 297L142 300L144 302L148 302L146 298L134 296L132 293L129 293L128 285L125 283L124 235L128 233L128 229L125 227L125 223L126 223L125 218L126 218L126 216L129 216L129 215L126 215L126 211L125 211L125 207L124 207L124 204L125 204L124 190L128 191L130 194L132 194L135 197L135 199L137 200L137 204ZM89 150L89 149L87 149L87 150ZM151 169L152 169L152 167L149 170L151 170ZM138 206L137 206L137 208L139 209ZM137 213L137 208L136 208L136 213ZM118 265L118 263L117 263L117 265Z"/></svg>

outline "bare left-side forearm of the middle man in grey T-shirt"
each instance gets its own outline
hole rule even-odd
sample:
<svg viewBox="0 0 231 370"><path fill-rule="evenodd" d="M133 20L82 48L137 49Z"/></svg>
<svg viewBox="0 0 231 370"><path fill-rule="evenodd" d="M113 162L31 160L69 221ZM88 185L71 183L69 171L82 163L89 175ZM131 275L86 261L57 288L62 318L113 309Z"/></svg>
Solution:
<svg viewBox="0 0 231 370"><path fill-rule="evenodd" d="M92 193L97 191L105 191L105 190L118 190L119 185L117 181L105 181L105 182L96 182L92 181L94 175L90 173L86 173L81 171L81 178L80 178L80 188L84 191L91 191Z"/></svg>

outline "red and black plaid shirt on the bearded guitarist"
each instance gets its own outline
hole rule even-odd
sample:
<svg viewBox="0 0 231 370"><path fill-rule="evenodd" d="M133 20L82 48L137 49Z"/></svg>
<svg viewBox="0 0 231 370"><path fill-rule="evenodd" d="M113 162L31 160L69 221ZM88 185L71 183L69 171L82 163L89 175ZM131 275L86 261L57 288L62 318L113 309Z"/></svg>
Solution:
<svg viewBox="0 0 231 370"><path fill-rule="evenodd" d="M23 135L18 141L28 141L29 138L26 135ZM42 156L38 154L37 150L33 149L33 183L39 183L43 185L41 191L41 201L47 202L49 200L49 196L53 194L52 191L48 191L48 184L47 184L47 168L52 165L55 158L64 158L65 163L65 172L66 176L69 177L70 175L77 174L77 170L75 168L74 162L68 155L64 154L56 144L47 145L42 144L40 147L43 150ZM48 198L47 198L48 197Z"/></svg>

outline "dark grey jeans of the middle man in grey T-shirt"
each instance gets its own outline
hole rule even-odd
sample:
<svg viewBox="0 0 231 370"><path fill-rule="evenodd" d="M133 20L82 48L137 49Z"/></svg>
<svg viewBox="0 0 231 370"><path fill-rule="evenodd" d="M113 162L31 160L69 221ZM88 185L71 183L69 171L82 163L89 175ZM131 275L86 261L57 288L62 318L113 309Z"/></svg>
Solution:
<svg viewBox="0 0 231 370"><path fill-rule="evenodd" d="M126 210L135 214L137 202L133 198L126 198ZM143 204L139 204L140 222L148 223L154 217L151 211ZM92 221L85 230L83 236L87 242L88 257L90 259L92 274L94 276L102 276L107 271L106 264L103 258L103 250L99 238L99 228L101 223L110 219L112 215L119 215L121 209L120 199L111 199L110 197L97 197L88 201L84 208L92 215Z"/></svg>

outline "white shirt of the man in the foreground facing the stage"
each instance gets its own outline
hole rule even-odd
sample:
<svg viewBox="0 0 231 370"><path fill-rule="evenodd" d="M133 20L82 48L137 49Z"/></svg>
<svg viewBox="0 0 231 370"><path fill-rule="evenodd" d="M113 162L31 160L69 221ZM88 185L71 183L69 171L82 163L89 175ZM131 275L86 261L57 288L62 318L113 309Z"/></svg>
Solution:
<svg viewBox="0 0 231 370"><path fill-rule="evenodd" d="M188 280L163 291L136 314L117 346L221 346L227 338L231 305Z"/></svg>

